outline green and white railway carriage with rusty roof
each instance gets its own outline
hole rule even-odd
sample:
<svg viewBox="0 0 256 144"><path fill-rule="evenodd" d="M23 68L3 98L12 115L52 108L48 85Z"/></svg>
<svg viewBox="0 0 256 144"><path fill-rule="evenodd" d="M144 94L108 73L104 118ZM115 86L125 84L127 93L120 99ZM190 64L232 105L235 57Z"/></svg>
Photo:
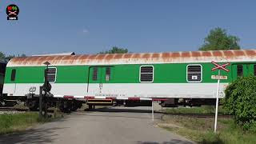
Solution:
<svg viewBox="0 0 256 144"><path fill-rule="evenodd" d="M56 98L216 98L210 62L230 62L222 71L220 93L238 76L255 74L256 50L218 50L147 54L85 54L13 58L6 67L3 93L39 94L44 62Z"/></svg>

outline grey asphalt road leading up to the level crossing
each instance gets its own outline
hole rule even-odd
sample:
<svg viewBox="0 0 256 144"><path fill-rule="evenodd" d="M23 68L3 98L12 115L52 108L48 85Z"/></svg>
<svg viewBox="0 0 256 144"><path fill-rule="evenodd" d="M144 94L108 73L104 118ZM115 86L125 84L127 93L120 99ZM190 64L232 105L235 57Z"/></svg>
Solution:
<svg viewBox="0 0 256 144"><path fill-rule="evenodd" d="M150 107L78 111L20 134L0 136L0 143L185 144L189 140L155 125Z"/></svg>

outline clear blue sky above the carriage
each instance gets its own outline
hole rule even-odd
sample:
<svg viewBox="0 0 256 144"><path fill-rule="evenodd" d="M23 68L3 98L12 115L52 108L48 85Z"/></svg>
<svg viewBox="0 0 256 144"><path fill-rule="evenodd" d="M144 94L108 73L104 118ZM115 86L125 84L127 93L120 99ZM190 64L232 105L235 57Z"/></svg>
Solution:
<svg viewBox="0 0 256 144"><path fill-rule="evenodd" d="M6 6L19 7L7 21ZM0 0L0 51L5 54L95 54L194 51L214 27L256 48L256 1Z"/></svg>

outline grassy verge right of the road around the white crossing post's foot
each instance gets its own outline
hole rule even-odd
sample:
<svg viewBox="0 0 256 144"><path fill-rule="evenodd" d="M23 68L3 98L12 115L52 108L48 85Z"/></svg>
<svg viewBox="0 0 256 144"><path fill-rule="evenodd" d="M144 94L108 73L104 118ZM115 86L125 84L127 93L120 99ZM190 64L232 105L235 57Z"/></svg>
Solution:
<svg viewBox="0 0 256 144"><path fill-rule="evenodd" d="M214 134L214 118L163 116L158 126L190 138L198 143L256 143L255 131L243 131L232 118L218 118L218 133Z"/></svg>

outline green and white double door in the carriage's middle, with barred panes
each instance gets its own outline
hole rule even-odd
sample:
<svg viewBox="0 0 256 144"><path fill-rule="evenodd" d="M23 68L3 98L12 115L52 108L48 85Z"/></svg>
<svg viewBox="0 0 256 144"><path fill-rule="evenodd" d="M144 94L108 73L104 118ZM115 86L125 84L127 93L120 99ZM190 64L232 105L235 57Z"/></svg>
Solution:
<svg viewBox="0 0 256 144"><path fill-rule="evenodd" d="M104 84L110 81L110 67L90 67L88 91L102 93Z"/></svg>

